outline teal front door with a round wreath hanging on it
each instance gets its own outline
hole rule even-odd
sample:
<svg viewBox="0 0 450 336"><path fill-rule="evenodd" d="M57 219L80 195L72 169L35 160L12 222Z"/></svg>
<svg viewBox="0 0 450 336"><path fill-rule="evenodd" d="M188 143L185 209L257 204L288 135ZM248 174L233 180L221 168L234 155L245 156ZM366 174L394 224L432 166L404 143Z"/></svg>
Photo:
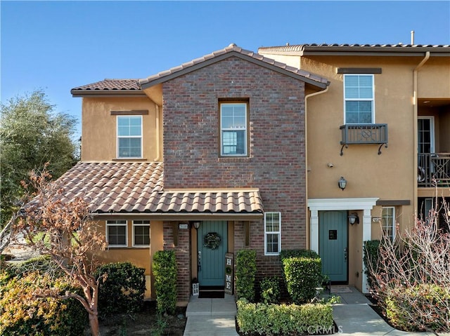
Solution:
<svg viewBox="0 0 450 336"><path fill-rule="evenodd" d="M228 227L224 221L205 221L197 230L198 283L201 286L225 285L225 253L228 252ZM205 236L219 236L220 243L205 244Z"/></svg>

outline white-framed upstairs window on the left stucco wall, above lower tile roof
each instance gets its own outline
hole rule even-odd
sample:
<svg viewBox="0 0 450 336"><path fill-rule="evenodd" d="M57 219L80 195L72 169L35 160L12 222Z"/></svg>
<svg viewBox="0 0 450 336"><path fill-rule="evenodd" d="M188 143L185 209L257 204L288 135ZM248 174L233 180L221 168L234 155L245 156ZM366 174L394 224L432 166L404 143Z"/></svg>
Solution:
<svg viewBox="0 0 450 336"><path fill-rule="evenodd" d="M142 116L117 116L117 157L142 157Z"/></svg>

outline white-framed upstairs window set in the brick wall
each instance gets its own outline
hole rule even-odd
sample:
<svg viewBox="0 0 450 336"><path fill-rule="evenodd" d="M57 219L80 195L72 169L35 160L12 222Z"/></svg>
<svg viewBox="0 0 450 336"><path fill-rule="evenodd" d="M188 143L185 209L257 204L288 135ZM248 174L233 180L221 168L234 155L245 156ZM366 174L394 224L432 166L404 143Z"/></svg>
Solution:
<svg viewBox="0 0 450 336"><path fill-rule="evenodd" d="M247 103L220 104L221 156L247 155Z"/></svg>

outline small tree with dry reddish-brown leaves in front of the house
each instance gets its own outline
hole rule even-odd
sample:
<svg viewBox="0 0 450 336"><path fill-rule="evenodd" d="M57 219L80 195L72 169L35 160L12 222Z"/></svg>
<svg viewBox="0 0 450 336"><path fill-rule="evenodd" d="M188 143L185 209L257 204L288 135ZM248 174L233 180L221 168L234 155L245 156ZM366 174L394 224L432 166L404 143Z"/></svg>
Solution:
<svg viewBox="0 0 450 336"><path fill-rule="evenodd" d="M82 303L89 314L91 334L98 335L98 285L105 276L94 276L98 267L98 253L105 250L105 236L92 220L89 206L81 197L65 199L63 187L51 182L44 169L40 174L30 173L30 184L36 190L27 194L28 201L20 217L13 224L13 236L25 236L26 245L51 260L71 279L72 285L81 287L83 295L58 288L41 288L37 297L74 298ZM24 186L27 187L26 185Z"/></svg>

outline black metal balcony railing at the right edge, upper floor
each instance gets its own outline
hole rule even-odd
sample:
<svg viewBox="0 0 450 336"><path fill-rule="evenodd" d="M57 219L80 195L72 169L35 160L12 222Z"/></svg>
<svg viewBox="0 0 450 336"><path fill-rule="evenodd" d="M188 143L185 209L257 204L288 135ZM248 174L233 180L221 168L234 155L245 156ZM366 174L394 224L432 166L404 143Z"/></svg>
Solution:
<svg viewBox="0 0 450 336"><path fill-rule="evenodd" d="M450 186L450 153L418 154L418 187Z"/></svg>

